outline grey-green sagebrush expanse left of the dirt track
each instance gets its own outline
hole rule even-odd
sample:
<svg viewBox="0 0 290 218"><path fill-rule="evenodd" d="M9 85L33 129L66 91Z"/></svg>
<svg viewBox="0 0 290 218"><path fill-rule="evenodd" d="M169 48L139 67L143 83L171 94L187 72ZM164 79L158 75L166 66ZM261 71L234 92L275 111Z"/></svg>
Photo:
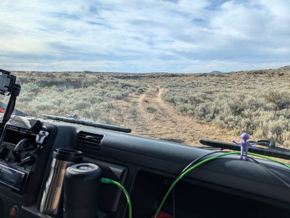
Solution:
<svg viewBox="0 0 290 218"><path fill-rule="evenodd" d="M79 117L115 124L120 116L117 101L126 101L130 93L143 90L143 81L121 80L110 73L85 72L14 72L21 92L16 108L24 113L64 116L76 113ZM4 103L8 98L0 96Z"/></svg>

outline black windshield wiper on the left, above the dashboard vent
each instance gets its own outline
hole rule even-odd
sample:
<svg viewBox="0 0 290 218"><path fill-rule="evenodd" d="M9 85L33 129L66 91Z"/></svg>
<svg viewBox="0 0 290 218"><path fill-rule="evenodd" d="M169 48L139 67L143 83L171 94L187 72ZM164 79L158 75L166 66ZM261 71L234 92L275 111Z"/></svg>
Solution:
<svg viewBox="0 0 290 218"><path fill-rule="evenodd" d="M94 120L86 119L86 118L78 118L77 115L74 113L71 113L71 114L66 115L64 117L52 116L52 115L47 115L47 114L41 114L41 116L43 118L46 118L46 119L59 120L59 121L70 122L70 123L77 123L77 124L99 127L99 128L103 128L103 129L116 130L116 131L121 131L121 132L131 132L131 129L126 128L126 127L120 127L120 126L114 126L114 125L105 124L105 123L99 123L99 122L95 122Z"/></svg>

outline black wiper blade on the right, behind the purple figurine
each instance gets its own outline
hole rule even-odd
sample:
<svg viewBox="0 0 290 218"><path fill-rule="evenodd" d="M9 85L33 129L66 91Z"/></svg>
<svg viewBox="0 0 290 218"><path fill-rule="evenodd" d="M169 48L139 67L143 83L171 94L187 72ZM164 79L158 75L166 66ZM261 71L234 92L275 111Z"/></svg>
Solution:
<svg viewBox="0 0 290 218"><path fill-rule="evenodd" d="M256 144L258 145L258 144L262 144L262 142L266 143L266 140L263 140L263 141L260 140L257 142L258 143L256 143ZM259 143L259 142L261 142L261 143ZM269 142L272 142L272 141L269 141ZM216 142L216 141L201 139L200 143L202 145L209 145L212 147L217 147L217 148L222 148L222 149L230 149L230 150L234 150L234 151L241 150L241 146L235 145L235 144L230 144L230 143L225 143L225 142ZM261 155L265 155L265 156L277 157L277 158L290 160L290 150L289 149L275 147L275 143L274 143L274 145L273 145L273 143L269 143L269 145L264 145L264 146L266 146L267 148L249 147L248 151L255 153L255 154L261 154Z"/></svg>

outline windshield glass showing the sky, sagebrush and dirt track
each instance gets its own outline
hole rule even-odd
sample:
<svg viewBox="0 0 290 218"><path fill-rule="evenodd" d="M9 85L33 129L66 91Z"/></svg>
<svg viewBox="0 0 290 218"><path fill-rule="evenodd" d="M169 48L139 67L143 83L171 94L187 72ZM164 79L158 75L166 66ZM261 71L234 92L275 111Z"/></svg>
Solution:
<svg viewBox="0 0 290 218"><path fill-rule="evenodd" d="M29 116L75 113L195 146L247 132L290 148L287 0L0 7L0 67L17 76L15 108Z"/></svg>

